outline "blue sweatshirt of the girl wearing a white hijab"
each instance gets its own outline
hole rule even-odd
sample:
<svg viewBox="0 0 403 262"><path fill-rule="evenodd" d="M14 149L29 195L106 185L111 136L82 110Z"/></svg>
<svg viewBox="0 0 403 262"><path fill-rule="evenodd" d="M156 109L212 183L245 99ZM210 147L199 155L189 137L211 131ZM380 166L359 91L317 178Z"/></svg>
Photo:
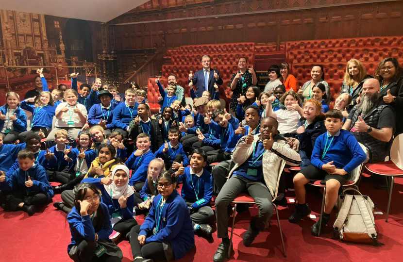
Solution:
<svg viewBox="0 0 403 262"><path fill-rule="evenodd" d="M123 219L133 218L134 209L134 194L127 198L126 208L120 208L118 199L113 199L110 192L106 192L103 184L101 184L100 178L85 178L82 183L92 183L95 184L101 191L101 202L104 203L109 210L109 214L121 212Z"/></svg>

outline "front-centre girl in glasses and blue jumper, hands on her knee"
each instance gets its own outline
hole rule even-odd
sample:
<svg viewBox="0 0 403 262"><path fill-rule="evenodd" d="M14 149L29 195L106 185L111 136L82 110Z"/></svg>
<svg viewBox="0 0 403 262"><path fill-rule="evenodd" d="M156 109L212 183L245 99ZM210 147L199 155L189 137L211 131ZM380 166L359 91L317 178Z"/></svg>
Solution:
<svg viewBox="0 0 403 262"><path fill-rule="evenodd" d="M189 209L176 185L176 177L169 172L158 176L160 195L154 197L144 223L130 231L134 262L180 259L195 245Z"/></svg>

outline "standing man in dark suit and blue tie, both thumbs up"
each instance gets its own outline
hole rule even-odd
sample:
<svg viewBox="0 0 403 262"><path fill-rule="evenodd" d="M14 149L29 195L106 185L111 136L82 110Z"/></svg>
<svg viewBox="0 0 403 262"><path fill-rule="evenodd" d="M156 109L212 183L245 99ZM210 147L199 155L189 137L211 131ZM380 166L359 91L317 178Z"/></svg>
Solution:
<svg viewBox="0 0 403 262"><path fill-rule="evenodd" d="M201 95L204 91L209 91L212 98L214 98L216 94L216 88L214 84L222 84L222 79L219 77L218 70L214 70L210 68L211 58L208 55L203 55L201 58L201 66L202 69L192 74L190 71L189 74L189 88L192 88L193 85L196 85L196 96L201 98ZM206 88L207 86L207 88Z"/></svg>

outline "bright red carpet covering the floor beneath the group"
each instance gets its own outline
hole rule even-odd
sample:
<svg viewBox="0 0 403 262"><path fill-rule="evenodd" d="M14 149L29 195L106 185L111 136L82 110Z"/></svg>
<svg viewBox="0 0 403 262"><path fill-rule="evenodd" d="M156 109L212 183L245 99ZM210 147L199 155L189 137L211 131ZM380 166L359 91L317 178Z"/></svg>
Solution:
<svg viewBox="0 0 403 262"><path fill-rule="evenodd" d="M287 179L287 185L289 185ZM403 212L401 203L403 200L403 179L396 179L393 189L392 203L389 214L389 222L385 222L387 207L387 191L379 191L372 188L369 183L361 183L360 190L363 195L369 195L376 205L376 211L383 215L375 215L376 225L379 229L379 241L385 246L370 246L358 243L345 243L332 239L332 227L335 214L332 213L332 223L326 226L320 237L313 237L310 227L314 221L309 217L299 224L290 224L288 216L291 215L294 204L288 203L287 207L279 207L281 226L285 238L287 258L283 257L280 233L277 227L275 215L271 217L271 227L260 233L250 247L242 244L242 235L248 227L250 215L257 213L256 207L251 207L249 212L239 213L236 217L234 232L235 254L230 261L289 261L289 262L389 262L401 261L403 245ZM286 192L286 197L295 197L293 191ZM53 201L60 201L60 195L56 195ZM313 212L319 212L321 195L319 191L308 193L307 201ZM317 213L316 213L317 214ZM139 224L143 222L143 216L136 217ZM231 220L232 221L232 220ZM196 246L184 258L178 262L210 262L218 246L216 228L214 240L207 241L196 236ZM1 262L68 262L67 244L70 234L66 220L66 214L56 211L49 204L42 213L36 213L29 217L21 212L4 212L0 208L0 261ZM118 242L123 251L123 262L133 260L130 244L126 240Z"/></svg>

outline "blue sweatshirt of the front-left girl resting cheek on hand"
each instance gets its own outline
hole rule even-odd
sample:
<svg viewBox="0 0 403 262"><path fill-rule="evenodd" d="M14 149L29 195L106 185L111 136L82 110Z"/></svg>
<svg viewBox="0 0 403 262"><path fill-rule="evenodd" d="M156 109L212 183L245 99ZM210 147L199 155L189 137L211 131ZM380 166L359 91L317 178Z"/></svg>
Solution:
<svg viewBox="0 0 403 262"><path fill-rule="evenodd" d="M109 235L112 234L112 223L109 217L108 208L102 202L98 209L102 209L102 229L95 232L94 226L91 222L90 215L81 216L80 211L73 207L67 214L67 222L70 226L71 239L70 244L67 246L67 253L70 252L71 247L79 245L83 240L94 241L95 233L98 235L98 240L108 240Z"/></svg>

